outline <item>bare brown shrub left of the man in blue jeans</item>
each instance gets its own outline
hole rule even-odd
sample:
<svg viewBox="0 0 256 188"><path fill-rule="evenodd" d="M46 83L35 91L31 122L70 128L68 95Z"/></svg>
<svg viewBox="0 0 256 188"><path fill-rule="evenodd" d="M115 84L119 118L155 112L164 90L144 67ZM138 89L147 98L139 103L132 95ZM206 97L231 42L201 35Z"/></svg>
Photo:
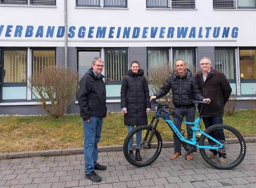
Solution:
<svg viewBox="0 0 256 188"><path fill-rule="evenodd" d="M29 81L40 107L50 116L62 118L76 95L79 76L75 69L52 66L35 72ZM51 105L47 105L47 101Z"/></svg>

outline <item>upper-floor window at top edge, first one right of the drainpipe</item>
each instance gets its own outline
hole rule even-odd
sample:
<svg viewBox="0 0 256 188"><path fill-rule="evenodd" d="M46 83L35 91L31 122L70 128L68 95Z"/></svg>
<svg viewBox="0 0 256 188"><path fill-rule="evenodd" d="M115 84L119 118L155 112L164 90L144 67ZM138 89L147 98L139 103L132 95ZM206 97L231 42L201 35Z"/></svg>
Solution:
<svg viewBox="0 0 256 188"><path fill-rule="evenodd" d="M76 6L102 7L100 0L76 0ZM103 7L127 8L127 0L104 0Z"/></svg>

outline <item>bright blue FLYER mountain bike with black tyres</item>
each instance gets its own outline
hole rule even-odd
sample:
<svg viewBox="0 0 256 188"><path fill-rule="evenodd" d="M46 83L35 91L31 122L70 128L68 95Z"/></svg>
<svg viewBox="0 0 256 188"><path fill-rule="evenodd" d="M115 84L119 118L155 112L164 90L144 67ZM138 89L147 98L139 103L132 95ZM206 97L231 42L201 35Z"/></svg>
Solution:
<svg viewBox="0 0 256 188"><path fill-rule="evenodd" d="M201 105L201 107L203 107L203 105L207 102L208 101L196 101L194 103L198 103ZM138 167L148 166L160 155L163 142L160 133L156 130L160 117L166 121L172 132L180 139L183 147L186 150L185 158L191 152L196 152L199 149L202 158L208 164L214 168L222 170L234 168L238 166L244 159L246 154L246 143L244 142L242 135L233 127L219 124L212 125L205 131L201 131L198 129L200 119L202 117L201 113L199 113L196 121L190 123L183 121L182 117L180 117L180 115L176 114L174 111L168 111L168 109L173 110L173 107L158 101L154 101L154 103L157 104L156 116L152 118L150 125L136 127L127 135L124 141L124 156L130 164ZM173 121L170 119L170 115L180 119L183 123L194 125L194 127L190 128L193 135L192 139L184 138L185 131L179 131L177 129ZM142 133L142 141L139 148L137 148L140 150L141 158L137 160L136 157L134 158L129 155L128 143L132 139L133 145L135 144L136 139L133 139L133 137L135 138L136 133L138 132ZM201 133L199 138L196 137L197 133ZM220 139L220 133L224 133L224 137L222 134L222 139ZM133 150L134 149L135 147L133 146ZM216 153L216 155L213 153ZM220 157L225 159L224 162L223 160L220 161Z"/></svg>

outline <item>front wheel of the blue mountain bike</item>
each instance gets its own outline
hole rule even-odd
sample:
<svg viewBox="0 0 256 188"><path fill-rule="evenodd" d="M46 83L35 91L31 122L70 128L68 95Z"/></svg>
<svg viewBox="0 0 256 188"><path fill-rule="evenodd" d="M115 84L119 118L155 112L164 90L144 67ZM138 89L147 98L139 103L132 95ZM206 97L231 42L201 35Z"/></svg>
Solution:
<svg viewBox="0 0 256 188"><path fill-rule="evenodd" d="M142 135L140 143L136 143L136 140L140 140L136 134ZM132 148L129 148L130 141ZM148 166L158 158L162 150L162 137L157 130L152 132L149 125L138 126L127 135L123 150L130 164L138 167Z"/></svg>

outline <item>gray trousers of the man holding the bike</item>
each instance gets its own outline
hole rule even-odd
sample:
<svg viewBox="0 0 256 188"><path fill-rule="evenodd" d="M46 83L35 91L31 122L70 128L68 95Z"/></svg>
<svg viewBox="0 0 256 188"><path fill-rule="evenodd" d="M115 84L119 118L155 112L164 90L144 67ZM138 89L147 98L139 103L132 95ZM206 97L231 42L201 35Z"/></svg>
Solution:
<svg viewBox="0 0 256 188"><path fill-rule="evenodd" d="M196 113L196 107L191 107L188 109L178 109L175 108L174 112L178 115L180 115L182 118L186 116L186 122L194 122L195 121L195 113ZM176 125L177 129L180 131L181 129L181 124L182 121L180 121L177 118L173 118L173 123ZM188 125L187 124L187 134L188 134L188 139L192 138L192 130L190 127L193 127L194 125ZM191 131L190 131L191 130ZM174 152L180 152L181 153L181 142L180 139L177 138L176 134L173 134L173 139L174 139Z"/></svg>

